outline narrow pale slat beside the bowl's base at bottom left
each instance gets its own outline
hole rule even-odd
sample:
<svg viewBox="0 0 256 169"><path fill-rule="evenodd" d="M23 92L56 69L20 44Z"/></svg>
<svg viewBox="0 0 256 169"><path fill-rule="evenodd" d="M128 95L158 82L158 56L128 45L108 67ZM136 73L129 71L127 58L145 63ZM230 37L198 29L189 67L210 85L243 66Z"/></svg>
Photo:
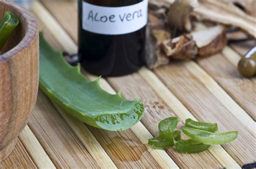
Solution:
<svg viewBox="0 0 256 169"><path fill-rule="evenodd" d="M19 139L38 168L56 168L28 125L19 135Z"/></svg>

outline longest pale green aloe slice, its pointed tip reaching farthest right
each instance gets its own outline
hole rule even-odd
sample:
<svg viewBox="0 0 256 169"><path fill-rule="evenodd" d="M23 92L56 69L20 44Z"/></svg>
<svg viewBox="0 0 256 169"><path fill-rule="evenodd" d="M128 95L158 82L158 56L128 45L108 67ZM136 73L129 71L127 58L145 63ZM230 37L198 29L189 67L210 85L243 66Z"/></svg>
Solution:
<svg viewBox="0 0 256 169"><path fill-rule="evenodd" d="M196 142L208 145L229 143L232 142L238 136L237 131L214 133L187 127L184 127L182 131L184 132L185 135L195 140Z"/></svg>

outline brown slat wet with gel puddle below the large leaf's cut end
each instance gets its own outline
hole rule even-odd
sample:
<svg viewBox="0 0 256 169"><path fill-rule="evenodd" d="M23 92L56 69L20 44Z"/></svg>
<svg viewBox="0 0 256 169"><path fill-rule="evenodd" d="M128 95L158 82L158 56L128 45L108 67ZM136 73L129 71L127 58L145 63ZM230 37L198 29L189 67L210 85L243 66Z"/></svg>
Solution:
<svg viewBox="0 0 256 169"><path fill-rule="evenodd" d="M88 126L118 168L156 168L146 147L139 142L131 130L112 132Z"/></svg>

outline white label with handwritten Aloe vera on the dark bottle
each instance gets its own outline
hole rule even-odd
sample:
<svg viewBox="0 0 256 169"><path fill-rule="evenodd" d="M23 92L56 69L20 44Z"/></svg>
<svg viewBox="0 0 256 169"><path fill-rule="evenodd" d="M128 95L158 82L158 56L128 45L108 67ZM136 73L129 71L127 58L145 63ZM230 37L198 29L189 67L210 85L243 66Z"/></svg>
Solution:
<svg viewBox="0 0 256 169"><path fill-rule="evenodd" d="M126 34L147 24L148 0L140 3L105 7L83 2L83 29L99 34Z"/></svg>

